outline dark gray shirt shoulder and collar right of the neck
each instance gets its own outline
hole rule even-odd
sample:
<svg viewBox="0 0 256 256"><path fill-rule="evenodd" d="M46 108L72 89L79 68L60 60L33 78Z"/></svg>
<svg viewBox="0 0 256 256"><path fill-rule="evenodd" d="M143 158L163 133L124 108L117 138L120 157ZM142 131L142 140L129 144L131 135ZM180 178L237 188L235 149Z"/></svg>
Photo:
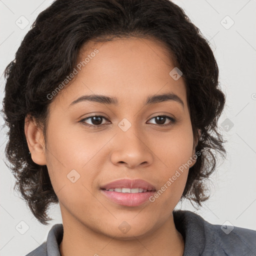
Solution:
<svg viewBox="0 0 256 256"><path fill-rule="evenodd" d="M194 251L191 255L256 255L255 230L211 224L186 210L173 211L173 218L185 237L185 251Z"/></svg>

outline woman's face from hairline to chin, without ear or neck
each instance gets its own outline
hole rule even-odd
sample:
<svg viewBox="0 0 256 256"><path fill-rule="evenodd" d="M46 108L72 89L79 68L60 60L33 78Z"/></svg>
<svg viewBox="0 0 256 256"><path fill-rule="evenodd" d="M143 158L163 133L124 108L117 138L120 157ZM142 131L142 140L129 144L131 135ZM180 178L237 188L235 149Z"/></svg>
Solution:
<svg viewBox="0 0 256 256"><path fill-rule="evenodd" d="M90 41L79 57L87 57L84 66L78 65L75 79L50 104L46 129L46 165L63 222L122 239L143 236L171 216L189 169L185 165L181 172L180 166L194 163L184 81L169 74L174 65L163 46L146 39ZM165 93L176 98L145 104ZM85 100L86 95L117 103ZM92 115L98 117L87 118ZM162 192L123 196L101 189L124 178L143 179Z"/></svg>

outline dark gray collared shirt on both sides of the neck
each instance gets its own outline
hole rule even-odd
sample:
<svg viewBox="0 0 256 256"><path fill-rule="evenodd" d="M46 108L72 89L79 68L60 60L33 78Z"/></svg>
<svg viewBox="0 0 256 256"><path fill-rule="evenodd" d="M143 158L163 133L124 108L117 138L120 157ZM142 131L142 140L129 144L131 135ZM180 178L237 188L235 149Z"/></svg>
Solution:
<svg viewBox="0 0 256 256"><path fill-rule="evenodd" d="M176 229L184 238L183 256L256 256L256 231L210 224L194 212L173 211ZM47 240L25 256L61 256L63 225L55 224Z"/></svg>

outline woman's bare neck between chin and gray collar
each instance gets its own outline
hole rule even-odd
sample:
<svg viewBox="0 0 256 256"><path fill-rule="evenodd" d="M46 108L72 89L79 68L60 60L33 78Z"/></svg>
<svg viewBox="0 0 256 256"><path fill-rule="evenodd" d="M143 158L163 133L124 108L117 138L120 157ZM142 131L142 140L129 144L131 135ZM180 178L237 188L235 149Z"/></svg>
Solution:
<svg viewBox="0 0 256 256"><path fill-rule="evenodd" d="M116 239L91 230L73 216L62 215L63 238L59 245L61 256L123 255L138 254L182 256L184 241L176 230L172 214L157 229L141 236ZM86 253L86 254L84 254Z"/></svg>

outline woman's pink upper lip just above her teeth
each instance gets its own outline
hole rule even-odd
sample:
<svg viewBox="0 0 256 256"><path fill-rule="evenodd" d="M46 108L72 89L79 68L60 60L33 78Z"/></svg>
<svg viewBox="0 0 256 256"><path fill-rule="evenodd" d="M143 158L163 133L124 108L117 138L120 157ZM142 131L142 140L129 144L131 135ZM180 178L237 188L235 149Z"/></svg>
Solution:
<svg viewBox="0 0 256 256"><path fill-rule="evenodd" d="M123 179L117 179L114 180L110 183L107 183L105 185L102 185L100 188L101 189L109 189L109 188L123 188L123 187L127 187L127 188L143 188L143 189L147 189L147 190L155 190L155 187L148 183L147 181L143 180L143 179L128 179L128 178L123 178Z"/></svg>

